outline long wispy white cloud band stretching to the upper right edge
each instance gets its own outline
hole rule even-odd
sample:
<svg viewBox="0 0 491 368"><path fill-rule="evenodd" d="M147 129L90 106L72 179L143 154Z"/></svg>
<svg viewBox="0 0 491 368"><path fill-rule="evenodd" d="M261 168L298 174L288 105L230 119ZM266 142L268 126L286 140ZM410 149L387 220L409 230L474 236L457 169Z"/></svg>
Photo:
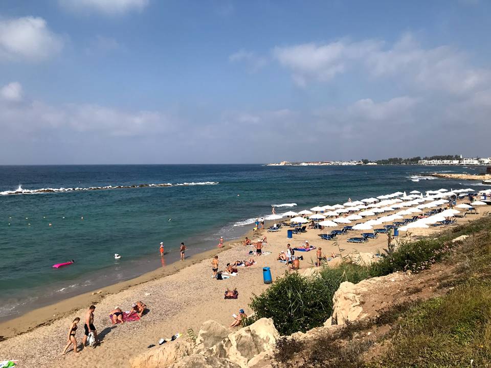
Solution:
<svg viewBox="0 0 491 368"><path fill-rule="evenodd" d="M273 55L291 70L299 86L306 86L310 81L327 82L359 69L373 78L396 77L398 82L413 89L450 94L482 88L491 81L491 72L473 67L465 53L447 45L422 48L411 34L404 35L391 47L377 40L344 39L327 44L277 47Z"/></svg>

